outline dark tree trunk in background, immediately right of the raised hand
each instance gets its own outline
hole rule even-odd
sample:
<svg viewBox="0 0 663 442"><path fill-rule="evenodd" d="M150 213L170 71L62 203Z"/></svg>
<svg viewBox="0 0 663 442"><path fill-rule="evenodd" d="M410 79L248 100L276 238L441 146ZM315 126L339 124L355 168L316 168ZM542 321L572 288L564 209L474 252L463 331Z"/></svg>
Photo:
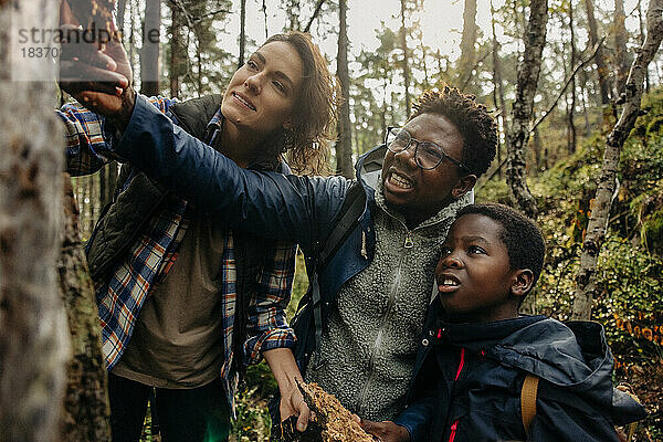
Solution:
<svg viewBox="0 0 663 442"><path fill-rule="evenodd" d="M159 95L159 42L161 35L161 0L146 0L140 50L140 93Z"/></svg>

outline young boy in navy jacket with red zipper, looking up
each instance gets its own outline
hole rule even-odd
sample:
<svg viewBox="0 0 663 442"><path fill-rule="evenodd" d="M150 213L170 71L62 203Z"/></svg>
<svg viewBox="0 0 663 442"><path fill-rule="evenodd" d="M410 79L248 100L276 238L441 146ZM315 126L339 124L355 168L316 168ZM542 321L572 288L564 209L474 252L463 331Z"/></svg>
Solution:
<svg viewBox="0 0 663 442"><path fill-rule="evenodd" d="M536 224L505 206L459 211L403 412L428 419L429 432L412 441L618 441L613 425L644 418L612 387L600 324L518 315L544 253ZM528 431L520 411L527 375L539 380Z"/></svg>

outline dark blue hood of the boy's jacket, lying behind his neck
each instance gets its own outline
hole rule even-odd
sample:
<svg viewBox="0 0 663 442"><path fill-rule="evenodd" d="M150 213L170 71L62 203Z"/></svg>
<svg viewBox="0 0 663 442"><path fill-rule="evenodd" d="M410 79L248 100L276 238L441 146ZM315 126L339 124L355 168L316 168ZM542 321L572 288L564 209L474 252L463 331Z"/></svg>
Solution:
<svg viewBox="0 0 663 442"><path fill-rule="evenodd" d="M560 390L572 388L618 424L646 414L628 393L612 387L613 357L598 323L562 324L545 316L524 316L445 327L453 344L483 350L486 357L530 372Z"/></svg>

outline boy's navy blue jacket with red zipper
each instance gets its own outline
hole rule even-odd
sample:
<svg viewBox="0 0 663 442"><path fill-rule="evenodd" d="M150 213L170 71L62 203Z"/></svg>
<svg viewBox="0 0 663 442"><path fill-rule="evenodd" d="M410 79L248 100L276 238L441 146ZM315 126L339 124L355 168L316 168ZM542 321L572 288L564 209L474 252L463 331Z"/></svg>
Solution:
<svg viewBox="0 0 663 442"><path fill-rule="evenodd" d="M567 325L545 316L488 324L438 319L433 302L417 357L409 407L423 418L413 441L526 440L520 391L539 377L532 441L618 441L615 424L645 417L612 387L613 357L598 323Z"/></svg>

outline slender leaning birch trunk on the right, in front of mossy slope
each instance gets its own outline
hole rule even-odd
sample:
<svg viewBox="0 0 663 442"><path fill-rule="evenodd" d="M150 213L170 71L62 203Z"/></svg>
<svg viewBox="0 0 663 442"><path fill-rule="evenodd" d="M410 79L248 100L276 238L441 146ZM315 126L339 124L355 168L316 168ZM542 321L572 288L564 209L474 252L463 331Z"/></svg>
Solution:
<svg viewBox="0 0 663 442"><path fill-rule="evenodd" d="M594 200L591 203L587 234L582 242L580 269L576 277L572 319L589 319L591 317L591 306L597 290L594 277L597 261L606 238L612 197L617 187L615 177L621 148L635 124L635 118L638 118L644 74L659 50L662 38L663 0L650 0L646 12L646 38L631 65L631 72L624 86L627 101L621 116L606 141L601 178L599 179Z"/></svg>

